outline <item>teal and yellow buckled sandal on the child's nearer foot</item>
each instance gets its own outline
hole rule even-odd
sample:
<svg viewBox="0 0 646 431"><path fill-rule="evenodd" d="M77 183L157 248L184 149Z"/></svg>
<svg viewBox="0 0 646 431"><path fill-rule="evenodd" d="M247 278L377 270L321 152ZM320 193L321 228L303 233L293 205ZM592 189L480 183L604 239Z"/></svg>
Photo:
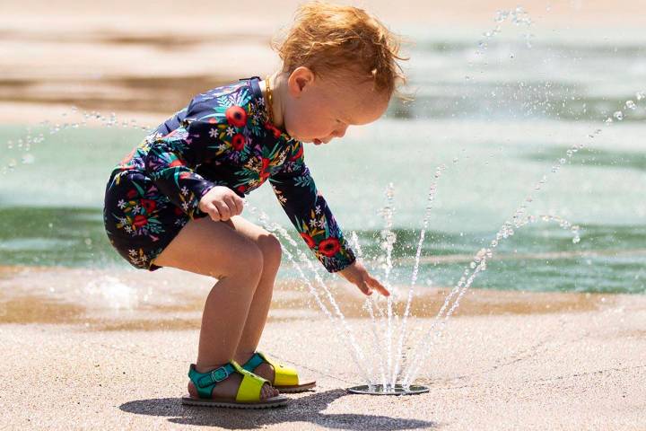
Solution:
<svg viewBox="0 0 646 431"><path fill-rule="evenodd" d="M223 382L231 374L242 374L242 381L238 388L235 400L231 398L217 397L213 398L213 390L217 383ZM265 383L269 383L266 379L259 377L256 374L250 373L243 369L235 361L216 368L207 373L199 373L196 370L196 365L191 364L188 370L188 377L191 382L195 384L199 398L191 396L182 397L182 404L192 406L210 406L210 407L228 407L234 409L268 409L272 407L284 406L289 399L277 395L275 397L260 399L260 391ZM270 383L271 384L271 383Z"/></svg>

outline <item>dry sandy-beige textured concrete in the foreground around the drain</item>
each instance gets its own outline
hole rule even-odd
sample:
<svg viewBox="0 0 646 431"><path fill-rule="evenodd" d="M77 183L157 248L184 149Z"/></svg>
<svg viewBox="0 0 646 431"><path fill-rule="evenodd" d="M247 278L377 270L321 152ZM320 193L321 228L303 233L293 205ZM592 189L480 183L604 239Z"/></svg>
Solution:
<svg viewBox="0 0 646 431"><path fill-rule="evenodd" d="M431 391L408 397L348 394L362 379L320 313L270 321L263 349L319 388L259 411L180 404L197 330L4 323L0 428L643 430L646 297L609 298L593 311L457 315L419 380ZM369 321L350 323L362 334Z"/></svg>

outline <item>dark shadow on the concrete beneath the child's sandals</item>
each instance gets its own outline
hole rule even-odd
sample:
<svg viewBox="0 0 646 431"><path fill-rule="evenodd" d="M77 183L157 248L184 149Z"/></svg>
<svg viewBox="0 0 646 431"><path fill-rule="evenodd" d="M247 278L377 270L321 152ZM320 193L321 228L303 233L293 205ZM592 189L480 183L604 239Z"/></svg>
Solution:
<svg viewBox="0 0 646 431"><path fill-rule="evenodd" d="M388 418L387 416L321 413L332 401L347 395L342 389L316 392L294 399L287 407L276 409L240 410L184 406L177 398L158 398L126 402L119 409L141 415L166 416L175 424L207 427L253 429L289 422L310 422L321 427L337 429L398 430L434 428L438 424L425 420Z"/></svg>

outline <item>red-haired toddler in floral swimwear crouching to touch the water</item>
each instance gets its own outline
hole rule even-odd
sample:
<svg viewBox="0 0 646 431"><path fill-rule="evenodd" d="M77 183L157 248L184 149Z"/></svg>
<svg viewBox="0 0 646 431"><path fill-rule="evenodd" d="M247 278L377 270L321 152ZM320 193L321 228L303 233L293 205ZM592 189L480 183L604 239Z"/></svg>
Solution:
<svg viewBox="0 0 646 431"><path fill-rule="evenodd" d="M404 80L398 44L361 9L302 5L275 45L283 66L196 95L111 173L104 221L136 268L173 267L217 279L205 301L187 404L265 408L305 391L296 370L257 352L281 245L241 216L269 180L304 242L329 272L371 295L388 290L355 260L304 163L350 125L379 119Z"/></svg>

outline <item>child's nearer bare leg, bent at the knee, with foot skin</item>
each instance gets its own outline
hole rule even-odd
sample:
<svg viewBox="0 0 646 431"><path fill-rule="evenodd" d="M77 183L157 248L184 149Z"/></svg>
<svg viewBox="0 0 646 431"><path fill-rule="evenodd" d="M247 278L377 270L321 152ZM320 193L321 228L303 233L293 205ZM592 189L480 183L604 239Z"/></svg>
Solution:
<svg viewBox="0 0 646 431"><path fill-rule="evenodd" d="M154 263L218 278L206 298L196 369L206 372L235 358L264 268L258 245L229 224L201 218L189 221ZM233 375L214 395L233 396L239 383L240 376ZM264 397L274 394L263 388Z"/></svg>

